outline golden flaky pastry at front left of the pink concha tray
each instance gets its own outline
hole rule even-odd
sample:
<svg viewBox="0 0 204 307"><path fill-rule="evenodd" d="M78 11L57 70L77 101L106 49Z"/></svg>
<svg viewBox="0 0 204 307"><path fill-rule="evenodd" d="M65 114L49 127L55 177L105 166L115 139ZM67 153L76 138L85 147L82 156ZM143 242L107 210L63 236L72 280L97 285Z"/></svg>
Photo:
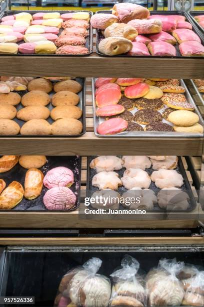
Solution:
<svg viewBox="0 0 204 307"><path fill-rule="evenodd" d="M23 187L17 181L11 182L0 195L0 209L10 210L23 198Z"/></svg>

